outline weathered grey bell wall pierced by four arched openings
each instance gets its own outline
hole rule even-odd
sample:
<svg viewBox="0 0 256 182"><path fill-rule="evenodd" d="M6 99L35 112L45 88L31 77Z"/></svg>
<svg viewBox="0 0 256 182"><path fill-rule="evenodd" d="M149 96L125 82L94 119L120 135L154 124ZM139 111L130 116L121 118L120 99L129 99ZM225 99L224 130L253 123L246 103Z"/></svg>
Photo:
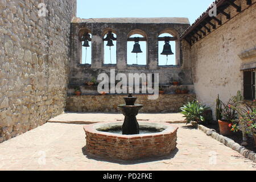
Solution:
<svg viewBox="0 0 256 182"><path fill-rule="evenodd" d="M74 18L71 24L71 64L68 93L73 94L76 86L97 78L100 73L110 76L110 69L115 73L159 73L160 84L170 84L172 79L180 79L184 85L192 85L191 67L183 58L183 42L179 35L189 27L187 18L113 18L80 19ZM104 64L103 37L109 30L117 35L117 64ZM92 64L81 64L81 35L88 31L92 34ZM158 65L158 36L171 33L176 40L176 65ZM147 39L147 64L127 65L127 38L141 34ZM90 52L88 52L90 53ZM135 55L134 55L135 56ZM84 93L86 94L86 93Z"/></svg>

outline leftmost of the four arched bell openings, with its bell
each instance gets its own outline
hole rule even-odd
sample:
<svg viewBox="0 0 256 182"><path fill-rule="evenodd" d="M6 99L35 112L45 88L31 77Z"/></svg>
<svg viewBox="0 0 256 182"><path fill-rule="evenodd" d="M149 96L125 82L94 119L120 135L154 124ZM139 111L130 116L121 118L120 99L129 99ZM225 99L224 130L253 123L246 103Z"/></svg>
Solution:
<svg viewBox="0 0 256 182"><path fill-rule="evenodd" d="M79 31L80 64L92 64L92 32L87 28Z"/></svg>

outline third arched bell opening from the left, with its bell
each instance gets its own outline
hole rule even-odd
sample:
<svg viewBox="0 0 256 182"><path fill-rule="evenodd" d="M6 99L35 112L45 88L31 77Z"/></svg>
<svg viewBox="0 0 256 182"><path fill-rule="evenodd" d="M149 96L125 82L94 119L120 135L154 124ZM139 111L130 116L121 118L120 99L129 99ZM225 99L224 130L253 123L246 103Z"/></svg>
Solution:
<svg viewBox="0 0 256 182"><path fill-rule="evenodd" d="M128 34L127 64L147 65L147 36L142 30L133 30Z"/></svg>

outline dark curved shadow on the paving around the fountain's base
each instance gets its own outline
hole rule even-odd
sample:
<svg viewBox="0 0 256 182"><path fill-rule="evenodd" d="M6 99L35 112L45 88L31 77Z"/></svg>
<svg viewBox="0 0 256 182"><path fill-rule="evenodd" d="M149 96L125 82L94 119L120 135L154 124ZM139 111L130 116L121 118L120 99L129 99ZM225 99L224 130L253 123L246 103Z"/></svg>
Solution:
<svg viewBox="0 0 256 182"><path fill-rule="evenodd" d="M82 147L82 154L84 154L86 156L86 158L88 158L88 159L93 159L93 160L97 160L100 162L122 164L122 165L141 164L141 163L148 163L148 162L156 162L156 161L160 161L160 160L170 160L175 157L175 155L177 154L178 151L179 151L179 149L175 148L175 150L172 151L172 153L167 156L126 161L126 160L110 159L110 158L108 158L108 156L106 156L106 158L104 158L104 157L92 155L86 151L86 146Z"/></svg>

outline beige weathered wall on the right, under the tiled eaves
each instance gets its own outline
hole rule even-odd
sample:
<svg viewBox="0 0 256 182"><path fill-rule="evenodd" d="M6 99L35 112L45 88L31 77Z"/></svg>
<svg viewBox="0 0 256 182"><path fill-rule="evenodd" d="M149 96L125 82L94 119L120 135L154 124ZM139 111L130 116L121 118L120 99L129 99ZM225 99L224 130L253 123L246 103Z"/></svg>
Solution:
<svg viewBox="0 0 256 182"><path fill-rule="evenodd" d="M215 110L215 100L228 101L238 90L243 93L243 75L240 68L245 63L255 63L254 57L241 59L242 52L256 47L256 5L250 7L246 1L236 1L242 12L237 13L232 6L226 12L232 19L218 15L222 25L216 23L216 30L199 40L191 47L193 82L195 93L200 101Z"/></svg>

